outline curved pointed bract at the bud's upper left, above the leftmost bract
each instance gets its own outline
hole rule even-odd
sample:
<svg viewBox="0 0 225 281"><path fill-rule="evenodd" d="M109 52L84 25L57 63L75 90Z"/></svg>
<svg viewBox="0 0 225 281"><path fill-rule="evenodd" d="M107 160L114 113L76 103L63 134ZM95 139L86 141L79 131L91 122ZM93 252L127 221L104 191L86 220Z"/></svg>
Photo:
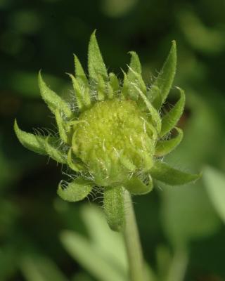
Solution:
<svg viewBox="0 0 225 281"><path fill-rule="evenodd" d="M68 103L65 102L60 96L58 96L54 91L46 86L44 80L41 77L41 72L39 72L39 89L41 91L41 97L44 99L45 103L49 106L51 112L55 113L56 109L59 109L65 114L66 117L72 117L72 112Z"/></svg>

